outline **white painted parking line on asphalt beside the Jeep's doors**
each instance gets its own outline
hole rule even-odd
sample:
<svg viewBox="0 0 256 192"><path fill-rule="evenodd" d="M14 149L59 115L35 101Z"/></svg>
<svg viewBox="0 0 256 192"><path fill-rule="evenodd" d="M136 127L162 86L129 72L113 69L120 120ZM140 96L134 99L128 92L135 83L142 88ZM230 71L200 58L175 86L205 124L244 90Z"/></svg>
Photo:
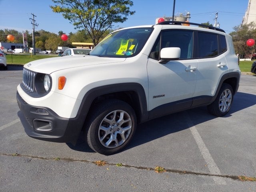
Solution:
<svg viewBox="0 0 256 192"><path fill-rule="evenodd" d="M204 141L202 140L200 134L196 130L196 127L192 123L191 119L186 116L186 120L188 123L188 126L190 127L190 131L192 132L192 135L194 136L194 139L196 140L196 144L198 145L198 148L204 157L204 160L206 161L207 167L210 170L210 173L213 175L221 175L220 170L216 163L214 162L209 150L207 149L206 145L204 144ZM226 182L223 178L214 176L213 180L215 181L216 184L220 185L226 185Z"/></svg>

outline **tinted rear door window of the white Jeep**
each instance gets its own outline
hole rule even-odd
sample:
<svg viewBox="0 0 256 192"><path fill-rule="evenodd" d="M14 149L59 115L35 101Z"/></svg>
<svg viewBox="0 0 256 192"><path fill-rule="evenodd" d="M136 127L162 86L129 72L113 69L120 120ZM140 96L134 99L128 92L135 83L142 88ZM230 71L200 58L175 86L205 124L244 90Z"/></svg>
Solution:
<svg viewBox="0 0 256 192"><path fill-rule="evenodd" d="M212 57L218 55L218 35L198 32L199 57Z"/></svg>

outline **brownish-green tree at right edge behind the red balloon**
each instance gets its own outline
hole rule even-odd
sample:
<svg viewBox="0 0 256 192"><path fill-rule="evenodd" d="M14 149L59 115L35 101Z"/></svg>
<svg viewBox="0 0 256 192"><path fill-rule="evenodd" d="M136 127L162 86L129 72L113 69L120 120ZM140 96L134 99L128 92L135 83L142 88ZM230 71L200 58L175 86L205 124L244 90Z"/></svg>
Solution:
<svg viewBox="0 0 256 192"><path fill-rule="evenodd" d="M256 24L251 22L248 25L235 26L234 30L230 35L233 38L236 53L252 58L252 54L255 53L255 45L249 47L246 41L248 39L256 40Z"/></svg>

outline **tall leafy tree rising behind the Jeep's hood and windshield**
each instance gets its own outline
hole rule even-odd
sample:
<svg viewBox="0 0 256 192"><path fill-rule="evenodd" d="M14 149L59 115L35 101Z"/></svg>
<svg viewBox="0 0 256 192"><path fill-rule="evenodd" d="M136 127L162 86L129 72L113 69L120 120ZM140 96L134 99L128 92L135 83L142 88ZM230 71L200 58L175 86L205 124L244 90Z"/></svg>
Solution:
<svg viewBox="0 0 256 192"><path fill-rule="evenodd" d="M131 0L52 0L53 12L62 13L65 19L73 23L75 29L85 30L94 46L103 34L115 23L125 22L133 6Z"/></svg>

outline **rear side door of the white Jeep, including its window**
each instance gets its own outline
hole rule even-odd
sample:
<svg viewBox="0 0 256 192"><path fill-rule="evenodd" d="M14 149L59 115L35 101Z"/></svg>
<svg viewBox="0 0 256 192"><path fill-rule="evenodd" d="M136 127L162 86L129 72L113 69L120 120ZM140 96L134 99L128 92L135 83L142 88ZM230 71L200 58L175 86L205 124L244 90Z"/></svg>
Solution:
<svg viewBox="0 0 256 192"><path fill-rule="evenodd" d="M214 96L220 77L228 71L225 54L222 54L226 50L224 35L198 32L198 76L194 97Z"/></svg>

